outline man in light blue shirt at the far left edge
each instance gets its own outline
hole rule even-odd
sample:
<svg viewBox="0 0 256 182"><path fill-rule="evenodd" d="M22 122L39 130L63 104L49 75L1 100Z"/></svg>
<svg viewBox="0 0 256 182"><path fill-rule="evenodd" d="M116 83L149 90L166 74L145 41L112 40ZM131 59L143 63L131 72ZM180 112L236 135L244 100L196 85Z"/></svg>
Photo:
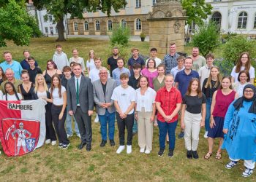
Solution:
<svg viewBox="0 0 256 182"><path fill-rule="evenodd" d="M7 68L11 68L14 71L15 79L20 79L20 74L23 68L20 66L16 60L12 60L11 52L4 52L4 62L0 64L1 68L3 68L4 72Z"/></svg>

